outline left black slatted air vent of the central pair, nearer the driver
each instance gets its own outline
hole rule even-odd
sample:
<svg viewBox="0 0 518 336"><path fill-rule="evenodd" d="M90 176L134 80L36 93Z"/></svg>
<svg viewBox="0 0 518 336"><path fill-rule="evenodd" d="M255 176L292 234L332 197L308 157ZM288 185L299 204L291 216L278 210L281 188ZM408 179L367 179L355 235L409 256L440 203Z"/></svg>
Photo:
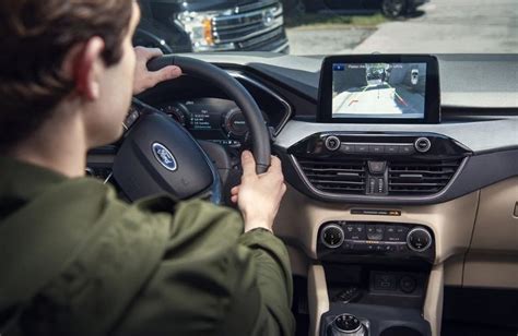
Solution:
<svg viewBox="0 0 518 336"><path fill-rule="evenodd" d="M365 194L366 165L363 160L299 158L298 164L316 189L337 194Z"/></svg>

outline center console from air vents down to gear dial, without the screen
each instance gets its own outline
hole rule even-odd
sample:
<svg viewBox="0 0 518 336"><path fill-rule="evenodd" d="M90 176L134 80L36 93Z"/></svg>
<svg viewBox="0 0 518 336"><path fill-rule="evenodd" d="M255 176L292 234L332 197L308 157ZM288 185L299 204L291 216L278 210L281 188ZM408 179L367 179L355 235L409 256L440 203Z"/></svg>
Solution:
<svg viewBox="0 0 518 336"><path fill-rule="evenodd" d="M328 302L317 313L318 334L437 335L423 317L437 237L433 224L412 221L404 208L439 203L470 151L434 133L321 132L287 154L292 185L348 208L315 224L321 277L309 290Z"/></svg>

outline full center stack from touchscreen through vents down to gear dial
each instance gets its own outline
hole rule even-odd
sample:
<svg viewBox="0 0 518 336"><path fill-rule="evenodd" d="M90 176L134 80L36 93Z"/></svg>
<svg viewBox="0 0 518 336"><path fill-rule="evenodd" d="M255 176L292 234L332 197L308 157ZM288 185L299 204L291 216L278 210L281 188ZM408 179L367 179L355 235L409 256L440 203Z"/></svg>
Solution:
<svg viewBox="0 0 518 336"><path fill-rule="evenodd" d="M440 122L438 76L436 58L424 55L322 62L316 121L329 130L320 125L282 154L290 184L322 209L304 219L316 257L308 277L316 335L438 335L435 264L452 238L438 230L444 218L416 208L464 195L457 180L472 155L455 139L413 131Z"/></svg>

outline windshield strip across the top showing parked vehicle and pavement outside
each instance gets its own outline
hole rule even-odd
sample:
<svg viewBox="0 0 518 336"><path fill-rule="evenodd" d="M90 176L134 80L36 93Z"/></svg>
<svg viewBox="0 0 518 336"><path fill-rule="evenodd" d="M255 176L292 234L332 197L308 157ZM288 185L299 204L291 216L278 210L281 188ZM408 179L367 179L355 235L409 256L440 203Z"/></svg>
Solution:
<svg viewBox="0 0 518 336"><path fill-rule="evenodd" d="M140 0L167 52L516 53L517 0Z"/></svg>

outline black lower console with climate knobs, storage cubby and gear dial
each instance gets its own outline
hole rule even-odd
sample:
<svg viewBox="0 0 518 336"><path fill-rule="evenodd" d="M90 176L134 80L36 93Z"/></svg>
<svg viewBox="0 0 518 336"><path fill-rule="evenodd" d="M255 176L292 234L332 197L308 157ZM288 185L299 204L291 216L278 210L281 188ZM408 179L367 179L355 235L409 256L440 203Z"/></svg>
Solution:
<svg viewBox="0 0 518 336"><path fill-rule="evenodd" d="M326 221L319 229L317 255L329 300L329 310L320 316L320 335L431 335L422 316L435 259L428 228Z"/></svg>

